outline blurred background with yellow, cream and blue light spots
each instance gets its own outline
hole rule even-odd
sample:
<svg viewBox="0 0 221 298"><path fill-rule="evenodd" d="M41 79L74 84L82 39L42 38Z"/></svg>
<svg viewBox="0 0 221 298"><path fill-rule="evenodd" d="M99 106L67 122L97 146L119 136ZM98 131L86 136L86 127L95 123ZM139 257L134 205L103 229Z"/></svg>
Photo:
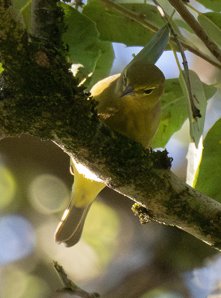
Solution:
<svg viewBox="0 0 221 298"><path fill-rule="evenodd" d="M111 75L141 50L123 44L113 48ZM219 81L217 69L186 55L203 82ZM157 66L166 78L179 76L170 51ZM218 90L208 101L204 135L220 117ZM172 170L183 181L188 145L186 121L166 145L174 159ZM0 141L0 297L54 297L62 284L52 260L77 285L105 298L221 297L220 252L176 227L141 226L131 211L133 202L107 187L88 213L80 242L71 248L55 244L72 183L69 156L53 142L28 135Z"/></svg>

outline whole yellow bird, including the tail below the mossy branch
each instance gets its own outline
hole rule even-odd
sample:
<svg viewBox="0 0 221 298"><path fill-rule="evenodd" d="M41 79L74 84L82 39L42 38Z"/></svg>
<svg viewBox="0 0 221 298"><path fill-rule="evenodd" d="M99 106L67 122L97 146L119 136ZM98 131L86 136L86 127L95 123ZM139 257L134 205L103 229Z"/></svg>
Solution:
<svg viewBox="0 0 221 298"><path fill-rule="evenodd" d="M133 61L133 60L132 60ZM165 77L152 63L130 63L121 74L99 81L91 89L98 101L100 119L111 129L150 148L161 118L160 98ZM55 241L67 247L76 244L83 231L88 210L105 184L71 158L74 184L69 205L55 232ZM93 175L93 174L92 174Z"/></svg>

